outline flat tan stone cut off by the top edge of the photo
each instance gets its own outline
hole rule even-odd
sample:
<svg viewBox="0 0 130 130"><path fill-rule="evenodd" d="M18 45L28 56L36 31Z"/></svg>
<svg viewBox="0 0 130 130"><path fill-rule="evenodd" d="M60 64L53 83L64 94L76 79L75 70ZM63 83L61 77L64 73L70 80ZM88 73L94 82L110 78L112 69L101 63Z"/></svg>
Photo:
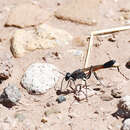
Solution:
<svg viewBox="0 0 130 130"><path fill-rule="evenodd" d="M55 12L59 19L95 25L99 16L100 0L68 0Z"/></svg>

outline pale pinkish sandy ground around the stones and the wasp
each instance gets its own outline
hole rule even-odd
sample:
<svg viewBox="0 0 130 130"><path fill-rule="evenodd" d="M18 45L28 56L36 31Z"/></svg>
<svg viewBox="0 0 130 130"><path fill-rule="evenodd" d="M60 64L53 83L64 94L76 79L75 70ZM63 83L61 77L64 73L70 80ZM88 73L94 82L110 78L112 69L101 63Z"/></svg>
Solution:
<svg viewBox="0 0 130 130"><path fill-rule="evenodd" d="M31 1L31 0L30 0ZM125 2L124 2L125 1ZM4 23L8 16L8 8L23 2L29 2L27 0L1 0L0 1L0 51L7 52L10 55L10 38L12 33L16 29L15 27L4 27ZM31 1L32 2L32 1ZM57 0L50 2L49 0L39 0L38 3L41 7L51 10L56 10ZM59 20L55 17L51 17L46 23L55 27L64 29L71 33L74 37L88 36L93 30L107 29L111 27L118 27L126 25L126 21L121 19L121 8L127 8L129 0L104 0L100 5L100 22L96 26L87 26L83 24L76 24L69 21ZM130 15L130 14L129 14ZM121 19L121 20L120 20ZM129 19L128 19L129 20ZM115 42L111 42L108 39L115 35ZM130 77L130 70L125 67L126 62L130 58L130 30L116 32L114 34L98 36L94 39L94 47L90 55L89 65L102 64L110 59L115 59L120 64L121 72L127 77ZM87 42L88 43L88 42ZM97 45L97 46L96 46ZM47 57L47 62L57 66L62 72L73 72L78 68L82 68L84 60L81 57L70 55L67 53L69 49L78 49L85 51L85 47L78 47L76 45L69 45L64 48L36 50L30 52L22 58L12 58L13 72L12 76L2 82L0 91L3 91L8 83L16 84L21 93L21 103L13 108L6 108L0 105L0 122L3 122L6 117L10 117L15 120L16 113L22 113L27 122L18 122L14 129L17 130L120 130L122 126L122 118L115 118L112 113L117 110L117 103L119 99L113 98L111 101L103 101L101 99L102 93L88 97L88 102L75 101L71 110L68 111L71 103L74 100L73 94L66 96L66 101L58 104L56 102L56 92L54 88L50 89L44 95L36 96L29 95L27 91L21 87L20 80L26 70L26 68L35 62L45 61L42 57L46 57L49 53L58 52L61 55L61 59L55 59L53 57ZM105 69L97 72L98 76L102 78L102 82L106 87L102 87L98 81L91 77L88 80L90 88L101 88L106 95L111 95L111 90L119 88L123 95L129 95L130 92L130 80L126 80L116 69ZM62 77L61 77L62 79ZM60 86L60 82L56 87ZM50 104L48 107L47 104ZM44 116L44 112L48 109L56 109L60 111L58 114L50 114L48 117ZM47 122L42 123L41 119L46 118ZM9 128L10 130L11 128ZM1 129L2 130L2 129Z"/></svg>

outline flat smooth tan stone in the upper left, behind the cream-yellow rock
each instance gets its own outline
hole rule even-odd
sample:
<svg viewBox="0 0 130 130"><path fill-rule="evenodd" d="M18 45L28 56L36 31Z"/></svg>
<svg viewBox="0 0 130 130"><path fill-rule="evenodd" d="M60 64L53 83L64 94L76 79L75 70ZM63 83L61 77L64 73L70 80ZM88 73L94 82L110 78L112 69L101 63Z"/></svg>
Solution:
<svg viewBox="0 0 130 130"><path fill-rule="evenodd" d="M9 13L7 26L28 27L44 23L51 13L32 3L19 4Z"/></svg>

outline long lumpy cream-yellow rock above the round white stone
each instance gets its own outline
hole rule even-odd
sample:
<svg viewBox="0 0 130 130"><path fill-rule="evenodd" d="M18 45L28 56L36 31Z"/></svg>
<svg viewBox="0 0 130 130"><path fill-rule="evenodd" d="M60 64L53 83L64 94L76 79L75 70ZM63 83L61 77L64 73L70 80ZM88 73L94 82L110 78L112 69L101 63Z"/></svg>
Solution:
<svg viewBox="0 0 130 130"><path fill-rule="evenodd" d="M11 51L15 57L22 57L29 51L63 46L72 41L68 32L42 24L32 30L18 29L11 40Z"/></svg>

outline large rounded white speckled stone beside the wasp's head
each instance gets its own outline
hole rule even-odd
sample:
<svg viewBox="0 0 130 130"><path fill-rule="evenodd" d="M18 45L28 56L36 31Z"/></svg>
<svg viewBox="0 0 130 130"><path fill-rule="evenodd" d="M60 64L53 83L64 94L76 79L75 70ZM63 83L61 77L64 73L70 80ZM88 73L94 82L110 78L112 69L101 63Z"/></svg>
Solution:
<svg viewBox="0 0 130 130"><path fill-rule="evenodd" d="M54 87L59 78L59 72L54 65L35 63L28 67L21 84L30 94L43 94Z"/></svg>

